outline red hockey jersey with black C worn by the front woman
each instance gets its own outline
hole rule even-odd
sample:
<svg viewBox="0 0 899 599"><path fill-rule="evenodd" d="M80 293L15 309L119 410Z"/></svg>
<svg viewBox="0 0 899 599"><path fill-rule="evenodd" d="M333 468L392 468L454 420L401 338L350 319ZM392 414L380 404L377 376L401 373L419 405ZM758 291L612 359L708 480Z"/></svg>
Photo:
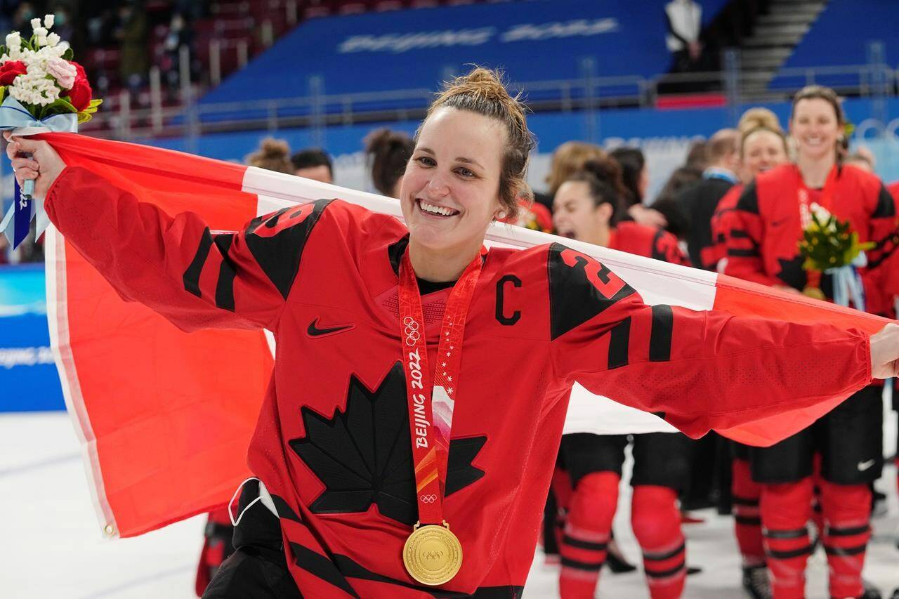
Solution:
<svg viewBox="0 0 899 599"><path fill-rule="evenodd" d="M494 248L468 312L449 446L444 515L464 561L423 588L401 559L417 519L397 314L405 227L316 201L210 231L72 166L45 206L124 298L184 330L274 334L248 463L304 596L519 596L574 381L698 436L871 378L861 332L650 307L565 246ZM447 294L423 298L431 363Z"/></svg>

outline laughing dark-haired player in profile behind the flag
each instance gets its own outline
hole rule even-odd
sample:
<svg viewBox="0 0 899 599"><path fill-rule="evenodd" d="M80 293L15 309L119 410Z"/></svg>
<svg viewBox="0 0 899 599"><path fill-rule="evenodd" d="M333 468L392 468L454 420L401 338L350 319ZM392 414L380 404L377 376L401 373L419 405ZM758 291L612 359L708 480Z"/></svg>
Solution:
<svg viewBox="0 0 899 599"><path fill-rule="evenodd" d="M633 221L619 222L625 213L619 193L591 166L588 163L586 170L574 174L556 192L553 217L559 234L689 264L670 233ZM618 505L627 444L627 434L562 437L561 451L574 486L560 547L559 593L563 599L592 598L596 592ZM686 545L677 493L689 474L689 452L690 439L681 433L634 435L631 523L643 550L646 582L654 599L673 599L683 592Z"/></svg>

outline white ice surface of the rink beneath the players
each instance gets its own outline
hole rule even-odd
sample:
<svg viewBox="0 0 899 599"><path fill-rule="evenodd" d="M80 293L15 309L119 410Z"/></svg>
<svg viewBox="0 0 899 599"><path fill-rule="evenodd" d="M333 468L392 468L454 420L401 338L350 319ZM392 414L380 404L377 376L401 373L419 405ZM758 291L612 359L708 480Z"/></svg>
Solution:
<svg viewBox="0 0 899 599"><path fill-rule="evenodd" d="M895 412L888 438L895 443ZM890 445L892 448L892 445ZM627 475L626 475L627 476ZM889 512L874 522L865 576L889 596L899 586L899 530L895 468L878 487ZM631 560L639 557L628 523L629 487L622 487L616 536ZM704 568L690 577L687 597L743 597L732 520L700 512L703 524L685 527L688 562ZM96 522L76 435L65 414L0 415L0 597L3 599L189 599L200 552L203 518L177 523L136 539L104 541ZM809 599L827 596L823 554L810 562ZM555 568L538 552L525 599L556 597ZM639 572L603 571L605 599L646 597Z"/></svg>

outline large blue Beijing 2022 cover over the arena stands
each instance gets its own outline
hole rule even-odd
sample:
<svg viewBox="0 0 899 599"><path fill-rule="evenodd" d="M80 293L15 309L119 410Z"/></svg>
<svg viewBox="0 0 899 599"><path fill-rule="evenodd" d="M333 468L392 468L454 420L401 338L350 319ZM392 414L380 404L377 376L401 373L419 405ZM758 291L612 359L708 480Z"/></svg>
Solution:
<svg viewBox="0 0 899 599"><path fill-rule="evenodd" d="M640 11L626 0L514 4L514 10L511 3L486 3L364 14L345 14L350 10L342 4L343 16L303 22L200 103L308 96L312 76L321 76L324 94L433 90L467 63L504 67L514 82L575 80L588 73L650 78L668 70L663 0L646 3ZM709 22L727 2L702 4ZM584 58L592 58L592 67ZM633 96L637 86L636 80L622 81L604 86L601 95ZM576 100L580 92L570 94ZM529 89L532 102L560 95L558 87ZM420 94L413 103L423 105L425 97ZM379 98L375 103L405 101Z"/></svg>

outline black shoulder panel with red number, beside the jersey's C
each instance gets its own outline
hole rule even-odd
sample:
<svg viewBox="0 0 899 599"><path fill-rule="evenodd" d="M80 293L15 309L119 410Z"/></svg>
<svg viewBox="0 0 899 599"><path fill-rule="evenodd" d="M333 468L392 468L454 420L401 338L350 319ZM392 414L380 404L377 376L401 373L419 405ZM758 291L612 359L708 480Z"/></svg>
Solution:
<svg viewBox="0 0 899 599"><path fill-rule="evenodd" d="M561 244L549 246L548 268L552 339L636 292L597 260Z"/></svg>

